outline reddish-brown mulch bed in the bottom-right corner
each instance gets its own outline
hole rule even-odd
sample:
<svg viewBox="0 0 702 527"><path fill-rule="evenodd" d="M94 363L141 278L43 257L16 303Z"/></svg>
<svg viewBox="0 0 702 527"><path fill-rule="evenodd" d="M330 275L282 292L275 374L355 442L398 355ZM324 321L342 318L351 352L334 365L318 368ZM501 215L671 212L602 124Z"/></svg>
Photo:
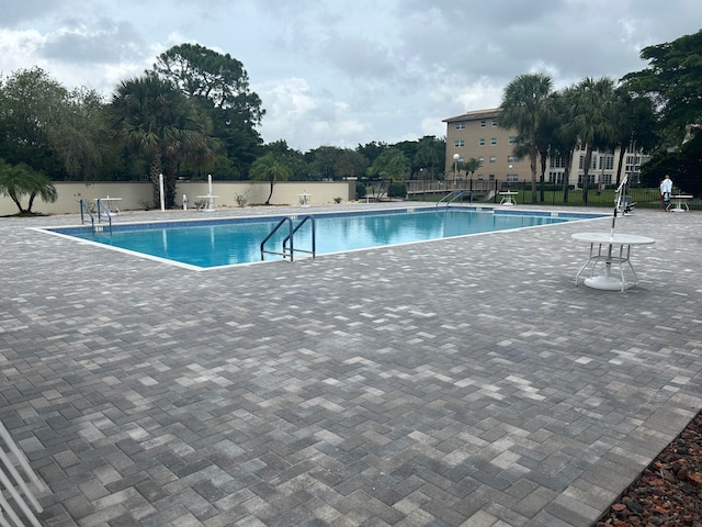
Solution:
<svg viewBox="0 0 702 527"><path fill-rule="evenodd" d="M702 412L642 472L595 527L702 527Z"/></svg>

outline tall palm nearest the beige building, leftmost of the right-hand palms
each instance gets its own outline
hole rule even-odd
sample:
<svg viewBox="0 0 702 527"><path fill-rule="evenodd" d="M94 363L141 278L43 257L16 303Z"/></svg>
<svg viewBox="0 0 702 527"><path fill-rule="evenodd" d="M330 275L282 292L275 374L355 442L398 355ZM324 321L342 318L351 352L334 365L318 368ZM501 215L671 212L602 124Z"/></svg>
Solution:
<svg viewBox="0 0 702 527"><path fill-rule="evenodd" d="M536 203L536 131L551 96L553 81L543 74L520 75L512 80L502 96L499 124L516 128L529 147L531 168L531 201Z"/></svg>

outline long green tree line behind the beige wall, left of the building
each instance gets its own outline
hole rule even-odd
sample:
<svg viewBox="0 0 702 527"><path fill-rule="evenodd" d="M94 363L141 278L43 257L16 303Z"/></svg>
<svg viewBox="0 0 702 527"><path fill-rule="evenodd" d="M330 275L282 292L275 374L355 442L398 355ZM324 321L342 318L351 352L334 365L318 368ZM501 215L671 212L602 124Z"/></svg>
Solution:
<svg viewBox="0 0 702 527"><path fill-rule="evenodd" d="M435 175L443 167L445 139L433 136L307 153L285 141L265 145L257 130L264 114L244 65L197 44L168 49L151 69L118 82L107 100L94 90L69 90L38 67L21 69L0 78L0 191L27 212L36 195L52 198L52 181L136 175L154 183L158 202L163 175L166 206L173 208L178 178L213 173L272 186L399 178L420 169ZM22 195L30 197L27 208Z"/></svg>

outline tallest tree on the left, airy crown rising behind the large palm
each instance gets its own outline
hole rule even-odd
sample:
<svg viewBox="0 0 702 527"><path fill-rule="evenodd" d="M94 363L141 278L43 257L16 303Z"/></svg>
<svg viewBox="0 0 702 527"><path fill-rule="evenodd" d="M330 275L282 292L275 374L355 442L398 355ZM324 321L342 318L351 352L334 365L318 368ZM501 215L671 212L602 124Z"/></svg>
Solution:
<svg viewBox="0 0 702 527"><path fill-rule="evenodd" d="M229 54L181 44L161 54L154 69L207 112L213 135L231 160L229 176L239 179L260 155L262 139L256 126L265 114L244 65Z"/></svg>

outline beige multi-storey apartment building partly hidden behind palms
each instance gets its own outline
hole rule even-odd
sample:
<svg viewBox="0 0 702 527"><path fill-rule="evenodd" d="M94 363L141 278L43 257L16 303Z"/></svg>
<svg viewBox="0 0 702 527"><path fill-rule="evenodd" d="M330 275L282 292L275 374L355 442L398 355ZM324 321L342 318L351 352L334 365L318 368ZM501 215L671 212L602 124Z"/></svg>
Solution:
<svg viewBox="0 0 702 527"><path fill-rule="evenodd" d="M460 167L461 161L475 158L483 165L473 175L474 179L500 182L531 181L529 158L517 158L513 154L517 145L517 131L501 128L499 115L499 109L494 108L467 112L442 121L446 123L446 179L461 181L471 177L465 171L458 170L456 172L454 169L456 166ZM629 175L630 182L637 182L641 165L649 158L642 152L625 152L621 176ZM537 162L540 161L537 160ZM615 184L619 164L619 149L615 152L595 150L588 172L589 183L591 186ZM573 156L569 178L571 186L582 187L584 169L585 145L581 145ZM536 170L540 171L541 166L537 166ZM563 158L559 156L550 157L546 161L545 181L547 183L563 183L564 173Z"/></svg>

